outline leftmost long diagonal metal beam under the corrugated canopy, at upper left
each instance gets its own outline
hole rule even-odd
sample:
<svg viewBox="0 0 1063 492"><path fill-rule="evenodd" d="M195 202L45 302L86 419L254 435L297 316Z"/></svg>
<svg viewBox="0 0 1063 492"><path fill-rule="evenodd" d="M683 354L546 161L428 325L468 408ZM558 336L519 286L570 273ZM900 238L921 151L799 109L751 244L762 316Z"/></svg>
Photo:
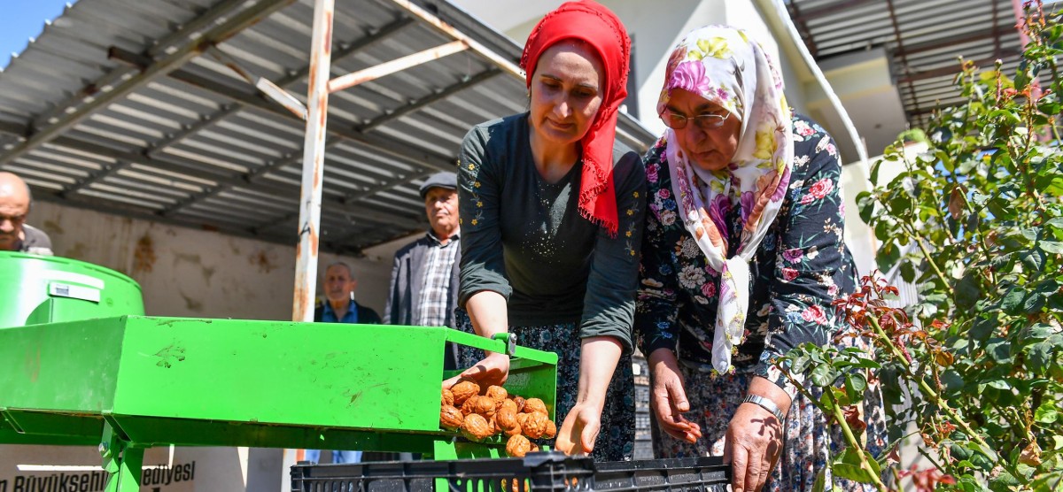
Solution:
<svg viewBox="0 0 1063 492"><path fill-rule="evenodd" d="M173 46L162 47L161 56L139 73L126 68L119 68L89 84L73 99L57 107L56 109L60 109L61 113L49 116L43 128L35 128L35 131L26 141L20 142L0 155L0 165L11 163L33 151L33 149L36 149L41 143L51 141L96 111L130 95L145 84L178 69L198 56L209 44L218 43L236 35L243 29L258 22L292 1L261 0L248 6L249 2L246 0L229 0L219 4L206 14L210 18L195 22L195 26L203 24L202 29L205 29L205 32L201 32L199 36L192 36L192 34L199 31L189 31L186 27L180 30L179 33L182 33L184 37L195 37L195 39L189 39L184 45L181 45L180 48L173 50L170 50ZM234 9L240 7L242 10L235 14L232 12Z"/></svg>

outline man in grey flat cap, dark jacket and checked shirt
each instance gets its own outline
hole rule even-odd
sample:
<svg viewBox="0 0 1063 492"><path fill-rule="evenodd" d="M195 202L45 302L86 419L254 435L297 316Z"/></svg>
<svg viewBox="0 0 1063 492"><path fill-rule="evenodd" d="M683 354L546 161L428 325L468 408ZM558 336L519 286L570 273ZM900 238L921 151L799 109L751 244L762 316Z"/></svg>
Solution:
<svg viewBox="0 0 1063 492"><path fill-rule="evenodd" d="M421 185L421 199L431 228L395 252L385 324L454 327L458 296L461 243L458 230L457 175L438 172ZM445 369L457 368L457 354L448 346Z"/></svg>

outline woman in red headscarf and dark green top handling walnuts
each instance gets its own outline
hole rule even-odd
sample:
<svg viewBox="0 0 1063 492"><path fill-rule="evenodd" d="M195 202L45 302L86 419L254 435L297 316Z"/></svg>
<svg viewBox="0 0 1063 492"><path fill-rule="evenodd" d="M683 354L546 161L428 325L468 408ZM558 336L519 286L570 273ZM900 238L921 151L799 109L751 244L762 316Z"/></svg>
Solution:
<svg viewBox="0 0 1063 492"><path fill-rule="evenodd" d="M556 446L598 460L629 459L634 442L646 180L638 154L614 140L629 52L624 26L593 1L546 14L521 60L528 112L472 129L458 163L458 324L556 352ZM459 363L487 384L509 370L496 353L470 350Z"/></svg>

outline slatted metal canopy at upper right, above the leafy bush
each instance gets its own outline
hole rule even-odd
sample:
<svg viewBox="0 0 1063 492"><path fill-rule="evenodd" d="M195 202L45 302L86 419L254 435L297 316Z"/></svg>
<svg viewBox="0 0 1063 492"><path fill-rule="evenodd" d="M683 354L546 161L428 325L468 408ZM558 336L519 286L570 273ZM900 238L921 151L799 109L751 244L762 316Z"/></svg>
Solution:
<svg viewBox="0 0 1063 492"><path fill-rule="evenodd" d="M992 69L999 58L1013 74L1023 44L1018 0L788 0L788 10L817 62L882 47L908 122L961 101L952 80L957 56ZM1049 3L1049 2L1045 2ZM1046 5L1058 10L1060 3Z"/></svg>

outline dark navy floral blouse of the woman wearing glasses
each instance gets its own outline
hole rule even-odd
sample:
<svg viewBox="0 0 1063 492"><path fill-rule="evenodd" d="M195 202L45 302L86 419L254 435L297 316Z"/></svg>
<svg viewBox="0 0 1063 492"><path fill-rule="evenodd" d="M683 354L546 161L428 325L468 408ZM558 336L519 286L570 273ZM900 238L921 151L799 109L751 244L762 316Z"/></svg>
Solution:
<svg viewBox="0 0 1063 492"><path fill-rule="evenodd" d="M853 260L843 240L841 164L829 135L800 116L793 119L794 163L790 189L775 223L749 265L753 279L745 341L736 370L767 377L794 396L795 389L771 360L804 343L826 343L836 330L830 302L855 286ZM667 347L688 366L711 369L720 274L708 266L678 219L665 145L659 140L646 166L646 228L643 235L635 330L642 353ZM738 207L728 213L729 234L740 237ZM729 241L736 254L739 241Z"/></svg>

